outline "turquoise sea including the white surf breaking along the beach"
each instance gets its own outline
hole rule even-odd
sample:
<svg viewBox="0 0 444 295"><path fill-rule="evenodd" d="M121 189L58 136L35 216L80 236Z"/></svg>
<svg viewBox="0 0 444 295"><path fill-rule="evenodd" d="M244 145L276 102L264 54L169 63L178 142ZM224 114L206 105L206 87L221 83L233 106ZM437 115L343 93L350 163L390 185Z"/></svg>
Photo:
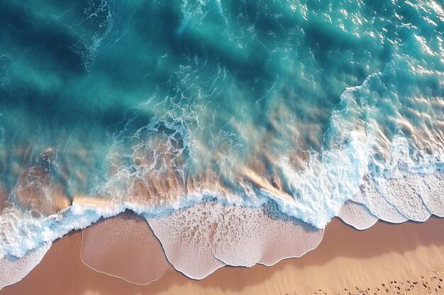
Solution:
<svg viewBox="0 0 444 295"><path fill-rule="evenodd" d="M348 199L393 222L444 214L443 9L5 1L0 254L209 199L317 228ZM70 209L85 199L114 207Z"/></svg>

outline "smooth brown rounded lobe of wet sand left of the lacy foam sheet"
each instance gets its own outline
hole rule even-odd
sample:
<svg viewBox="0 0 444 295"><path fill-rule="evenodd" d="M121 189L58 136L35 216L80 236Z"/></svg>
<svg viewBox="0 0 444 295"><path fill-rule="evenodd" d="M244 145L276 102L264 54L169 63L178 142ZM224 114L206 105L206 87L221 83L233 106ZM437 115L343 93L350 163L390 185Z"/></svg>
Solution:
<svg viewBox="0 0 444 295"><path fill-rule="evenodd" d="M150 284L172 267L147 221L130 211L84 229L80 257L93 270L138 284Z"/></svg>

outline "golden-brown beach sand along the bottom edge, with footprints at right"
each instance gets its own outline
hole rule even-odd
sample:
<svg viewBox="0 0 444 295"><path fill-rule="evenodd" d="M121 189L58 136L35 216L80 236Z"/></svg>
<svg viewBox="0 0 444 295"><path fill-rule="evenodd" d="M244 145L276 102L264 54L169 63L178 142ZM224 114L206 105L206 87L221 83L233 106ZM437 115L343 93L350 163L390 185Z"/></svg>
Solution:
<svg viewBox="0 0 444 295"><path fill-rule="evenodd" d="M84 265L76 231L56 241L28 276L0 295L443 294L443 229L444 219L435 217L422 224L378 221L366 231L334 219L321 245L302 258L272 267L223 267L201 281L169 270L148 286Z"/></svg>

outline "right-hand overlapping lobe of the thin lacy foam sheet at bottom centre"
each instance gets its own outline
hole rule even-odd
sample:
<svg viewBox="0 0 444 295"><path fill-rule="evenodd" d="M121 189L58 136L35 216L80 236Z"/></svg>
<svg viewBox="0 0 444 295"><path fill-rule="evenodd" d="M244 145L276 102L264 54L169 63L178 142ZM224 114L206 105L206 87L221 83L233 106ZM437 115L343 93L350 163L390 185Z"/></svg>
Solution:
<svg viewBox="0 0 444 295"><path fill-rule="evenodd" d="M223 218L213 236L213 253L227 265L271 266L284 258L301 257L316 248L323 238L323 230L267 214L262 209L219 207L218 210Z"/></svg>

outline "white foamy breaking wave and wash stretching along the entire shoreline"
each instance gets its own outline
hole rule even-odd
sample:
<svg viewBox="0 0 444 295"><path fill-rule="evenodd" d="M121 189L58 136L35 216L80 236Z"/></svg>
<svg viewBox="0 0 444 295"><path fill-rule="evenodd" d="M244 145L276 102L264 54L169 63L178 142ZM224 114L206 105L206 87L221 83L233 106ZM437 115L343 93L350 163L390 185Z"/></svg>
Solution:
<svg viewBox="0 0 444 295"><path fill-rule="evenodd" d="M392 74L392 65L386 71ZM381 135L383 124L378 120L386 117L374 112L368 96L374 95L371 87L374 83L379 86L382 77L384 74L372 74L362 86L343 93L326 132L324 145L331 149L309 154L302 170L296 170L289 158L282 158L280 186L248 168L242 170L243 176L235 178L241 189L233 188L233 183L211 183L216 179L211 177L185 181L188 157L194 153L187 127L155 118L133 134L128 128L133 120L128 120L123 129L113 134L114 145L108 158L114 172L105 185L93 190L96 194L115 195L74 197L69 207L50 216L35 216L15 204L4 208L0 217L0 256L8 261L28 257L29 251L40 249L37 257L30 255L23 260L37 264L56 238L131 209L147 219L172 265L189 277L201 279L223 265L273 265L283 258L299 257L316 248L322 229L334 216L357 229L366 229L377 219L397 223L425 221L431 214L443 216L439 195L443 178L440 141L428 141L435 146L423 151L418 148L419 137L414 137L415 142L402 132L391 140ZM362 116L365 121L360 120ZM165 147L165 151L153 149L153 141L160 142L158 146ZM138 154L140 150L151 154ZM51 164L50 154L45 151L36 165ZM166 163L174 163L174 173ZM30 183L25 181L21 187L52 186L41 181L47 179L48 170L41 178L37 166L27 170L24 179ZM147 190L149 182L152 190ZM171 197L172 194L177 195ZM230 235L233 236L226 243ZM289 236L292 241L287 242ZM282 241L279 245L283 248L277 249L274 241Z"/></svg>

